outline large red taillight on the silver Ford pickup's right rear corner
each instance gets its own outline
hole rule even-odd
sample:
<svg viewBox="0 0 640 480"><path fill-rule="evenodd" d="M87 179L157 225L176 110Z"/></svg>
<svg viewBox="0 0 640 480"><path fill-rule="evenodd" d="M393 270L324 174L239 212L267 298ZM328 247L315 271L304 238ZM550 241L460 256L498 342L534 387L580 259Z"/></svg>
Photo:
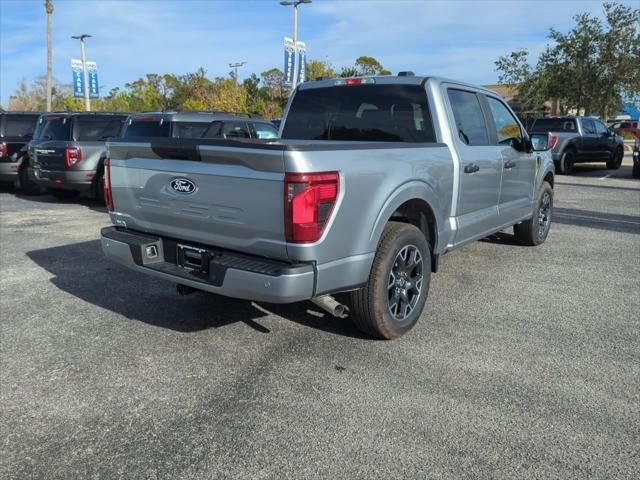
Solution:
<svg viewBox="0 0 640 480"><path fill-rule="evenodd" d="M285 174L284 226L287 242L318 241L329 223L339 191L338 172Z"/></svg>

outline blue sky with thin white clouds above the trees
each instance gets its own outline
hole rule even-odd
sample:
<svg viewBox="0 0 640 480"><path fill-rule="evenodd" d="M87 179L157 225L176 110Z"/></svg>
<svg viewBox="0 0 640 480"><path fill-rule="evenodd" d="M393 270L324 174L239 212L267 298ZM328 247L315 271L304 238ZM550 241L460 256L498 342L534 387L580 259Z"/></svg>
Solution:
<svg viewBox="0 0 640 480"><path fill-rule="evenodd" d="M293 9L278 0L53 0L53 76L71 83L80 58L71 35L88 33L87 60L98 64L101 94L147 73L202 67L240 79L283 68L283 37ZM635 4L635 2L622 2ZM44 0L0 0L0 103L18 83L46 73ZM535 59L550 27L567 31L579 12L602 15L599 0L314 0L299 7L298 38L309 59L336 67L361 55L397 73L496 83L494 61L519 48Z"/></svg>

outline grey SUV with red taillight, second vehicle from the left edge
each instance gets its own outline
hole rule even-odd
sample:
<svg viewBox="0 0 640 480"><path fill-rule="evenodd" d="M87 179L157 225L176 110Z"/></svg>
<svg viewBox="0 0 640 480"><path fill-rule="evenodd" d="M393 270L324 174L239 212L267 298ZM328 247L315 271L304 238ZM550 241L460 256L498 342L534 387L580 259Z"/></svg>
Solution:
<svg viewBox="0 0 640 480"><path fill-rule="evenodd" d="M58 199L80 192L104 198L105 141L120 135L126 118L106 112L42 115L28 146L30 178Z"/></svg>

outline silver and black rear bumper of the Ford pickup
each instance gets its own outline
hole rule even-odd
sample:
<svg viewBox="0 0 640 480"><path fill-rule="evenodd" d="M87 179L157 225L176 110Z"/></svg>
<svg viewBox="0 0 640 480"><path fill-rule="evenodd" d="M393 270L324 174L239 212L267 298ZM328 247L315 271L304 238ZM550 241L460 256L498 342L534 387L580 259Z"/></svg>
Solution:
<svg viewBox="0 0 640 480"><path fill-rule="evenodd" d="M116 262L174 283L188 285L227 297L269 303L293 303L313 297L314 265L289 265L229 251L211 250L209 272L203 274L179 267L171 261L175 241L116 227L101 231L102 250ZM149 258L147 247L157 256ZM169 261L167 261L169 260Z"/></svg>

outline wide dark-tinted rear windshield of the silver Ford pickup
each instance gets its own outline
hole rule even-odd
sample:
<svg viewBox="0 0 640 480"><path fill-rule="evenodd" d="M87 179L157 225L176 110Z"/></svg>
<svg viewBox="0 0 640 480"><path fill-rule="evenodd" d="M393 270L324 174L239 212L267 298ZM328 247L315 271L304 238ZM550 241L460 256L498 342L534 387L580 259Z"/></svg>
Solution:
<svg viewBox="0 0 640 480"><path fill-rule="evenodd" d="M427 95L418 85L357 85L296 93L282 138L435 142Z"/></svg>

